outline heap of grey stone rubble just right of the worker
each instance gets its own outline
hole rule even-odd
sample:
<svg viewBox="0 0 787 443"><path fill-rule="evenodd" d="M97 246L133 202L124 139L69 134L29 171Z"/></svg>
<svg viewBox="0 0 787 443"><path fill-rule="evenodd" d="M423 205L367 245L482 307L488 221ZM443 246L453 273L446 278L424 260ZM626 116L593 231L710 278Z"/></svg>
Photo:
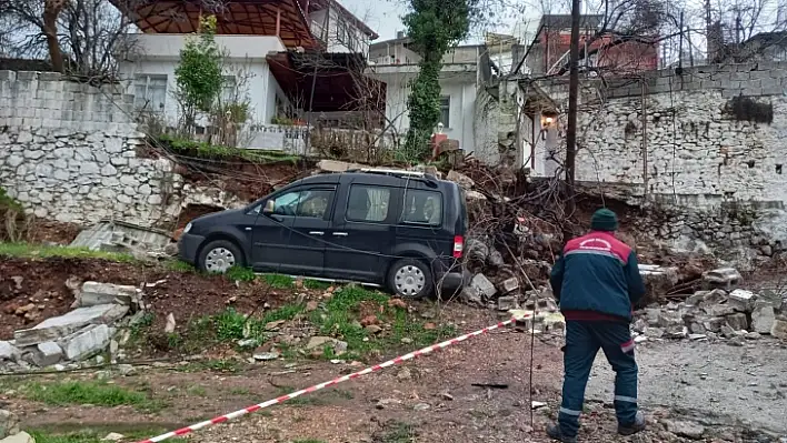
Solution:
<svg viewBox="0 0 787 443"><path fill-rule="evenodd" d="M697 291L686 301L647 308L634 323L639 341L647 339L729 339L731 344L773 335L787 341L784 301L769 291L736 289Z"/></svg>

